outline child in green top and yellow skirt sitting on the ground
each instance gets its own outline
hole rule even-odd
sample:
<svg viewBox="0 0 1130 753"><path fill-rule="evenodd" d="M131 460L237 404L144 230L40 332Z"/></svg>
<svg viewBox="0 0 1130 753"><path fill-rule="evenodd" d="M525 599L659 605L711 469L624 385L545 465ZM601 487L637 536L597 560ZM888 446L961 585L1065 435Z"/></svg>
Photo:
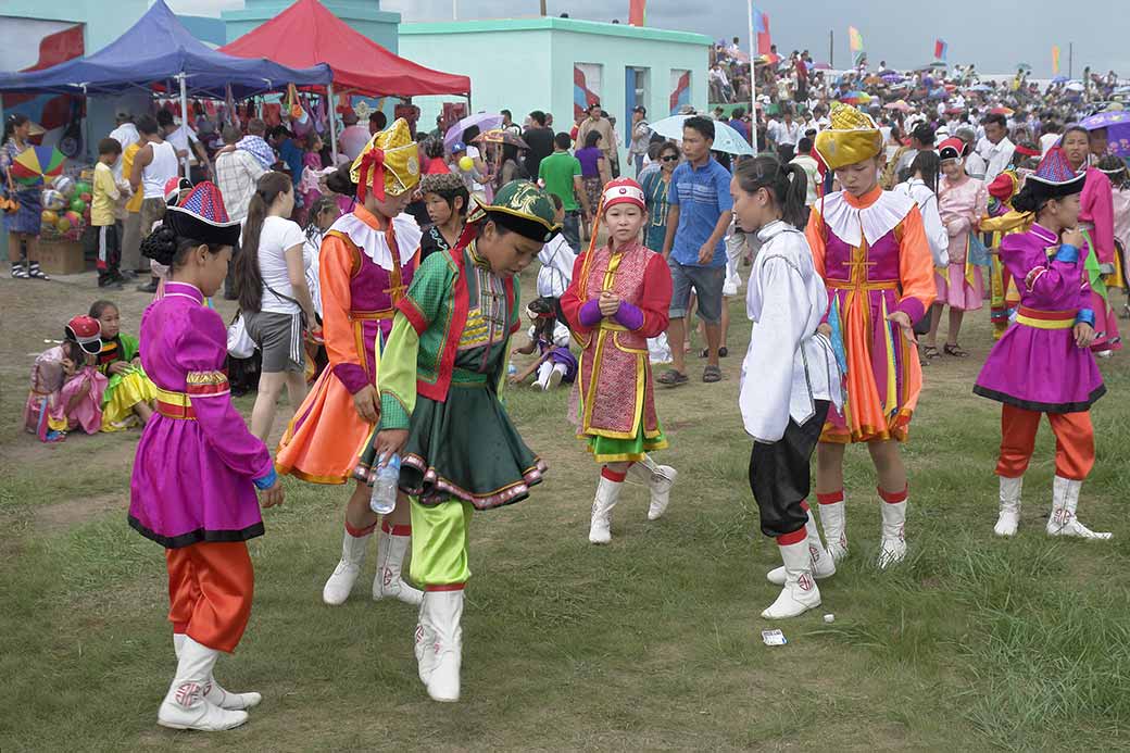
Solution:
<svg viewBox="0 0 1130 753"><path fill-rule="evenodd" d="M108 380L102 396L102 431L129 429L138 421L145 425L153 416L157 387L141 366L138 338L121 332L121 313L110 301L95 301L90 318L98 321L102 336L98 371Z"/></svg>

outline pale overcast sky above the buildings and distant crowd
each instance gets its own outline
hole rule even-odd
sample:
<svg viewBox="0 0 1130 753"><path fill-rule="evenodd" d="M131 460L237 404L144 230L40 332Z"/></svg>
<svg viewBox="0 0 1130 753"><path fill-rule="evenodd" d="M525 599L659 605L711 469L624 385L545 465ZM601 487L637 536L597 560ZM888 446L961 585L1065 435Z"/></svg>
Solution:
<svg viewBox="0 0 1130 753"><path fill-rule="evenodd" d="M242 8L243 0L167 0L176 12L217 16ZM374 0L375 1L375 0ZM458 0L460 18L506 18L537 15L537 0ZM704 12L709 8L707 12ZM773 41L781 52L808 49L818 61L828 59L828 32L835 32L836 67L846 67L847 25L863 35L872 66L886 60L895 68L929 62L933 42L949 44L950 63L976 63L986 73L1006 73L1016 63L1033 66L1036 77L1051 76L1052 45L1061 47L1061 72L1067 73L1068 43L1075 43L1075 76L1084 66L1094 71L1114 69L1130 77L1128 0L757 0L770 17ZM402 14L406 21L450 20L452 0L382 0L381 8ZM803 9L801 12L800 9ZM551 15L627 20L628 0L548 0ZM738 32L747 44L747 12L742 0L650 0L647 25L699 32L713 38Z"/></svg>

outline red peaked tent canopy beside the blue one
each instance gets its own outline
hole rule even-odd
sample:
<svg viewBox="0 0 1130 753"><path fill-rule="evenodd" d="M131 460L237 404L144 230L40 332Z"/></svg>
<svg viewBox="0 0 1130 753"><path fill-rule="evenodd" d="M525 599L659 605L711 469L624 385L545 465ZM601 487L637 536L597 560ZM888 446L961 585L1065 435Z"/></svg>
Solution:
<svg viewBox="0 0 1130 753"><path fill-rule="evenodd" d="M319 0L298 0L262 26L219 49L241 58L267 58L308 68L324 62L333 86L370 96L468 95L471 79L432 70L395 55L355 32Z"/></svg>

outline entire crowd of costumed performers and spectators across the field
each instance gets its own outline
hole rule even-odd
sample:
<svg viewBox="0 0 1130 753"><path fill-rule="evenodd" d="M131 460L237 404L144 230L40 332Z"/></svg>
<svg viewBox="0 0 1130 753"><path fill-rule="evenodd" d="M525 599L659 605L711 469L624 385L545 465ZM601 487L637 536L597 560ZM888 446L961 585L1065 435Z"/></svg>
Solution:
<svg viewBox="0 0 1130 753"><path fill-rule="evenodd" d="M672 140L638 107L621 164L624 141L599 103L568 131L541 111L524 127L504 111L510 136L494 141L478 126L423 133L346 112L340 164L319 137L255 118L245 131L198 128L197 146L171 114L122 113L96 168L113 215L103 226L115 227L98 234L99 285L148 274L155 301L140 341L121 334L107 301L71 319L62 345L36 360L26 425L43 441L145 426L129 521L168 551L177 656L159 724L228 729L261 702L212 672L247 624L257 491L263 508L281 503L285 475L354 484L322 598L350 597L375 538L372 596L418 608L420 681L434 700L457 701L472 512L524 500L547 473L511 423L503 384L572 384L572 433L599 469L588 538L607 545L629 474L649 488L650 520L677 494L678 471L652 458L678 439L655 391L690 381L695 317L702 382L722 380L727 298L742 277L754 326L738 407L760 528L782 560L767 573L781 591L765 618L818 606L816 581L849 554L850 444L866 443L875 465L878 566L906 556L901 447L924 367L970 356L962 326L986 300L996 343L974 391L1002 404L996 533L1018 533L1048 415L1048 535L1110 537L1077 508L1094 465L1089 409L1105 391L1095 358L1121 348L1112 296L1125 288L1130 181L1105 133L1070 124L1092 106L1090 87L1075 103L1033 104L1020 77L1003 93L966 94L930 73L903 88L880 75L867 84L879 102L927 95L872 107L843 88L866 71L836 84L838 97L807 69L793 86L806 60L794 55L777 87L779 118L739 110L725 121L755 146L744 158L714 148L720 116L688 112ZM935 85L944 99L930 98ZM14 138L26 138L20 128ZM185 159L194 180L177 175ZM537 297L522 305L518 278L534 259ZM209 304L221 293L238 300L231 327ZM531 356L521 370L518 354ZM231 403L233 366L249 360L259 373L250 426ZM653 375L658 363L669 365ZM284 388L294 415L272 453Z"/></svg>

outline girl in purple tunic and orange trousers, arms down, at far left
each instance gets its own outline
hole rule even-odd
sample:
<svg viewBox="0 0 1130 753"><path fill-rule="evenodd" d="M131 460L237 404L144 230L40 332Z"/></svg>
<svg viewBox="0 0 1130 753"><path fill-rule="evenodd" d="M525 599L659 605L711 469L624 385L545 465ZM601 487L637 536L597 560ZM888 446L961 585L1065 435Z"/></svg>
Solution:
<svg viewBox="0 0 1130 753"><path fill-rule="evenodd" d="M141 318L141 364L157 387L157 410L133 460L129 523L166 549L177 664L157 724L173 729L231 729L262 700L228 692L212 676L251 615L246 542L263 534L259 504L282 502L270 452L232 405L224 320L203 304L224 284L238 240L240 223L205 182L168 207L142 243L171 271L166 295Z"/></svg>

